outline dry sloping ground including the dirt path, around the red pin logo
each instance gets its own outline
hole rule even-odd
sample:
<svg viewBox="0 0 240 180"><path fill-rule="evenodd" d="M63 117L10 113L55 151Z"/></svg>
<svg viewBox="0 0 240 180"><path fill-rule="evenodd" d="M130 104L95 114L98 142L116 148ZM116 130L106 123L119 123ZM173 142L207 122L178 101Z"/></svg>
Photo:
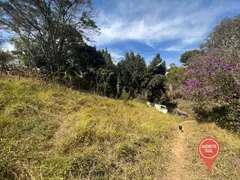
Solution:
<svg viewBox="0 0 240 180"><path fill-rule="evenodd" d="M213 122L197 123L191 111L192 103L181 99L177 102L189 117L181 122L184 132L175 134L170 170L164 179L240 179L240 134L221 129ZM210 173L198 155L198 144L206 137L215 138L220 143L220 154Z"/></svg>

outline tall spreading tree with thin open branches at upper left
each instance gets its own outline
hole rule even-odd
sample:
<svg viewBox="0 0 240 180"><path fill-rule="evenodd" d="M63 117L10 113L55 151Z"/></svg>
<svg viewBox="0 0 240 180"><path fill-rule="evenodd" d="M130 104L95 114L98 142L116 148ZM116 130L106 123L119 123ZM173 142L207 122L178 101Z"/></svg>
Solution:
<svg viewBox="0 0 240 180"><path fill-rule="evenodd" d="M48 74L72 66L72 48L85 45L85 32L98 27L90 0L0 2L1 28L14 32L26 55Z"/></svg>

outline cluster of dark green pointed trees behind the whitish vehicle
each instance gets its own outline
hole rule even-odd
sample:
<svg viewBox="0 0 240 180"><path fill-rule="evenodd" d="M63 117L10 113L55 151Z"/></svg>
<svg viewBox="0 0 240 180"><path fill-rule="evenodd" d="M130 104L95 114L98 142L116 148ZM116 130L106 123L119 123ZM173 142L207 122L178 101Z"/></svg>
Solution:
<svg viewBox="0 0 240 180"><path fill-rule="evenodd" d="M150 102L161 102L165 93L166 63L157 54L146 66L144 58L133 52L126 53L118 63L119 88L125 89L131 97L145 96Z"/></svg>

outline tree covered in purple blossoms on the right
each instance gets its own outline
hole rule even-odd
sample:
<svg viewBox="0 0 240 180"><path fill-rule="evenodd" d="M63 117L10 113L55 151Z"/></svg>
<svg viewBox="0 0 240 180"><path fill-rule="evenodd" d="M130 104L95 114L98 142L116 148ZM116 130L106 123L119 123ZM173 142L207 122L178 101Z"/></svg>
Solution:
<svg viewBox="0 0 240 180"><path fill-rule="evenodd" d="M240 60L198 57L189 65L187 77L186 98L226 105L240 113Z"/></svg>

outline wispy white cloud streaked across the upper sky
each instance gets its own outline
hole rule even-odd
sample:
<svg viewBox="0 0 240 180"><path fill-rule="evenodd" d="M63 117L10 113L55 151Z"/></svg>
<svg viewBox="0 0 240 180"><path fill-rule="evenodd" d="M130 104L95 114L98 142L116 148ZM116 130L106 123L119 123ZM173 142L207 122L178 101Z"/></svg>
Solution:
<svg viewBox="0 0 240 180"><path fill-rule="evenodd" d="M201 4L203 1L195 0L122 0L109 3L111 8L100 9L96 19L101 28L101 35L94 37L97 46L136 40L154 47L156 43L178 40L184 47L204 40L216 18L234 8L234 4L229 3L228 7L218 0L209 1L207 6Z"/></svg>

